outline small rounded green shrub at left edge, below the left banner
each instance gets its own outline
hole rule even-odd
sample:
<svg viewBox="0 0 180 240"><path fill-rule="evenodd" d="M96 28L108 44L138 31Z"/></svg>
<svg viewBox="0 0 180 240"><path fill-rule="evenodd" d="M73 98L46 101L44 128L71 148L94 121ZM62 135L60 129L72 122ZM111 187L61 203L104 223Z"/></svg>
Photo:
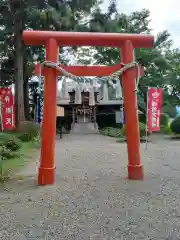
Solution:
<svg viewBox="0 0 180 240"><path fill-rule="evenodd" d="M15 136L6 136L1 143L11 151L17 151L21 148L21 141Z"/></svg>

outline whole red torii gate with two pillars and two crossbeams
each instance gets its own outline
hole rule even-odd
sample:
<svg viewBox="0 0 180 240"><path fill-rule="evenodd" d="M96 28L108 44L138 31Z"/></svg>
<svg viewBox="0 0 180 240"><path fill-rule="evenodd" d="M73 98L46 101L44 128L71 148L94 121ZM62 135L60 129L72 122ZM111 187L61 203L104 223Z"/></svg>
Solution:
<svg viewBox="0 0 180 240"><path fill-rule="evenodd" d="M59 45L119 47L121 48L123 64L128 64L135 60L134 48L152 48L154 43L154 37L151 35L88 32L24 31L23 39L27 45L45 45L46 60L54 63L57 63ZM81 76L108 76L118 70L119 67L120 65L109 67L63 66L66 71ZM36 71L38 71L38 66L36 66ZM38 183L45 185L53 184L55 180L56 77L60 76L61 73L57 72L56 69L43 68L42 74L45 76L45 91ZM128 147L128 178L141 180L144 178L144 169L140 159L138 106L136 92L134 91L136 87L135 77L135 69L127 70L122 75L122 84Z"/></svg>

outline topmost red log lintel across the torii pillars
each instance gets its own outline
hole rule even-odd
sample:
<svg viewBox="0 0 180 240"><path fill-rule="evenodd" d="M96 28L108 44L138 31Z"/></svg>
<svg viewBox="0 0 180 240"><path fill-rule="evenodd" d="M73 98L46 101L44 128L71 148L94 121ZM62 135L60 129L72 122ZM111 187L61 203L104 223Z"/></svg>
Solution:
<svg viewBox="0 0 180 240"><path fill-rule="evenodd" d="M48 39L55 39L60 46L104 46L122 47L131 41L134 48L152 48L154 37L146 34L91 33L91 32L55 32L29 31L23 32L26 45L45 45Z"/></svg>

